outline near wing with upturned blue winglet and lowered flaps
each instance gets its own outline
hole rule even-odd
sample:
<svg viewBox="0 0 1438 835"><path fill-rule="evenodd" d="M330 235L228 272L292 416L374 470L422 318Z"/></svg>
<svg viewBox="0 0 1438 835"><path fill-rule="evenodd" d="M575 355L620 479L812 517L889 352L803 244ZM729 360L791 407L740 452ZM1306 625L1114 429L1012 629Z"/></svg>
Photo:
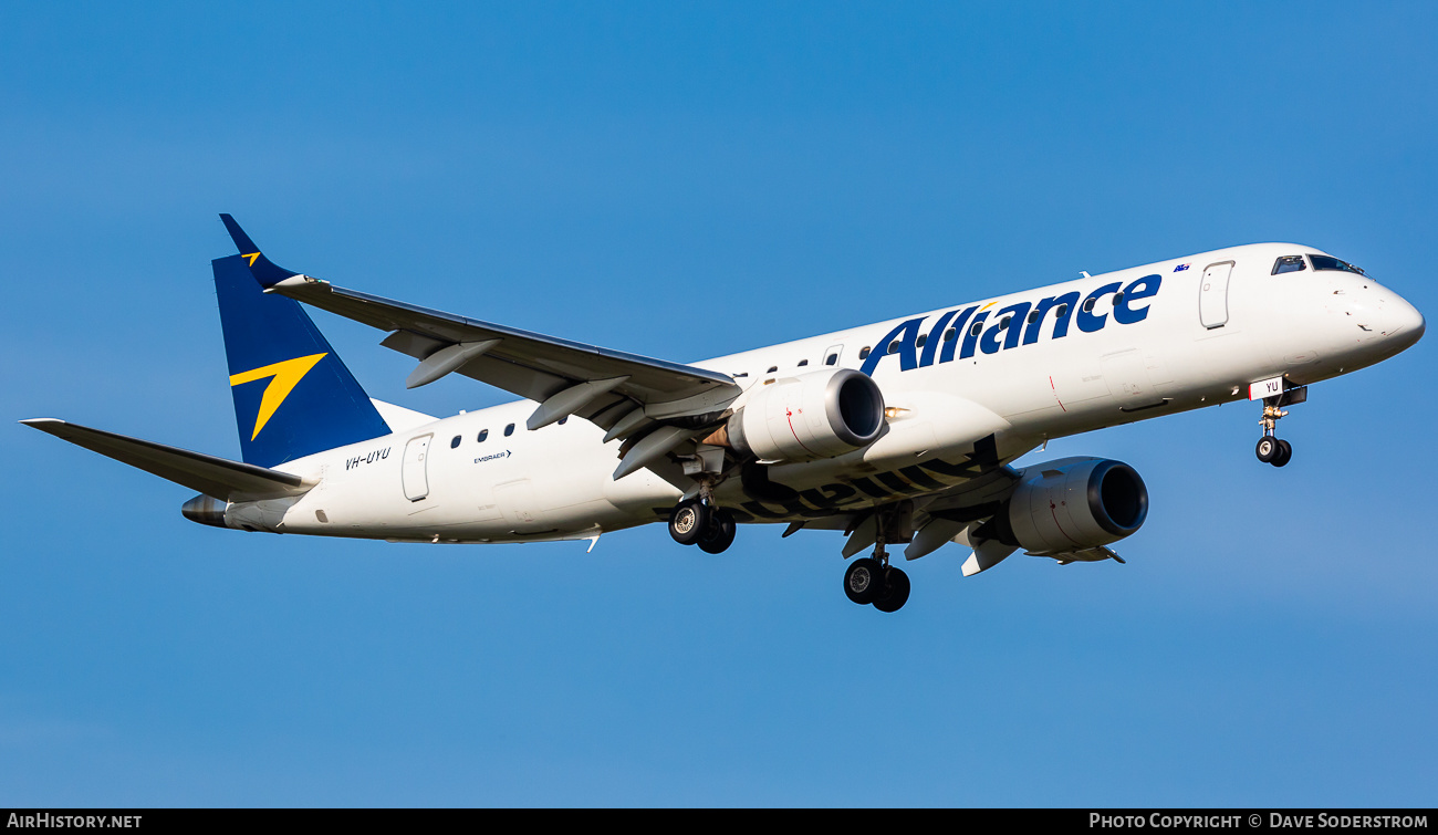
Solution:
<svg viewBox="0 0 1438 835"><path fill-rule="evenodd" d="M702 424L741 392L731 377L715 371L418 308L285 270L234 218L220 217L266 292L388 331L381 345L420 361L410 388L459 372L539 402L531 430L578 415L608 430L605 440L630 438L659 421Z"/></svg>

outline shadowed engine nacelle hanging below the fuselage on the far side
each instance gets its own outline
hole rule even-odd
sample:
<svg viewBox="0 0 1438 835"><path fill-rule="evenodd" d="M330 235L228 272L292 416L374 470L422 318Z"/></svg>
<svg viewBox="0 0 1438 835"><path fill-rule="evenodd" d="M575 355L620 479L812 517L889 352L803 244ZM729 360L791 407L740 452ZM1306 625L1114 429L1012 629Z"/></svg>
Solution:
<svg viewBox="0 0 1438 835"><path fill-rule="evenodd" d="M1045 461L1022 470L1008 502L1009 545L1037 553L1099 548L1136 532L1148 513L1149 490L1133 467L1109 458Z"/></svg>

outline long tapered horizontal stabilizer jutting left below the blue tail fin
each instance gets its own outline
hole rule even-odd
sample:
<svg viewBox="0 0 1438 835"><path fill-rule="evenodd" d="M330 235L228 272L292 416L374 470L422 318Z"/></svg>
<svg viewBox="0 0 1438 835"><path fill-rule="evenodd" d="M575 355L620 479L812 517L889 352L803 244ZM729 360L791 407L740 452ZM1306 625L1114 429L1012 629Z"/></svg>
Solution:
<svg viewBox="0 0 1438 835"><path fill-rule="evenodd" d="M30 418L20 423L216 499L295 496L313 486L290 473L92 430L56 418Z"/></svg>

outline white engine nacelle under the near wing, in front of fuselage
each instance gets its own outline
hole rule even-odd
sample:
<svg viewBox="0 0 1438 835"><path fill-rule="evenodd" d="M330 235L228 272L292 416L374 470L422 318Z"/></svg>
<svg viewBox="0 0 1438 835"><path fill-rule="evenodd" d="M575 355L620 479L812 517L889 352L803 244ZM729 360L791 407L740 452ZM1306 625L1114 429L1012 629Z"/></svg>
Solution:
<svg viewBox="0 0 1438 835"><path fill-rule="evenodd" d="M867 447L883 428L883 392L851 368L764 385L725 424L729 446L761 461L833 458Z"/></svg>

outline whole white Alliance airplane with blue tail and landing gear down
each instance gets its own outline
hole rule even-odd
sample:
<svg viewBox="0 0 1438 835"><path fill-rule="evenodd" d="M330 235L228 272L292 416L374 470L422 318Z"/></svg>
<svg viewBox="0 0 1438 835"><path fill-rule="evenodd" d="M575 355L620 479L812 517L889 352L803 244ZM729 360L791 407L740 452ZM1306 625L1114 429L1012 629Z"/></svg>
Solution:
<svg viewBox="0 0 1438 835"><path fill-rule="evenodd" d="M892 563L948 543L974 576L1022 550L1123 562L1149 512L1097 457L1012 463L1054 438L1240 400L1260 461L1307 387L1418 342L1424 316L1319 249L1183 256L695 364L394 302L276 266L229 214L211 262L242 461L56 418L20 421L198 492L201 525L416 543L590 540L667 522L720 553L739 525L841 532L844 594L909 599ZM370 398L305 313L384 331L417 361L523 400L434 418Z"/></svg>

